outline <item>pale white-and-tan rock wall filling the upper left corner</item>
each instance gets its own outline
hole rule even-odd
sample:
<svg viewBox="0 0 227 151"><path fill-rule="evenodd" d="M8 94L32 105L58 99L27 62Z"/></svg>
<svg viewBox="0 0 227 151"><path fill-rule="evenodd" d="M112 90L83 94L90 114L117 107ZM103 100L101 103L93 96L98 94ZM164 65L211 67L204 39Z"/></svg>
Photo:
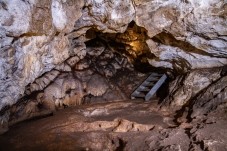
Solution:
<svg viewBox="0 0 227 151"><path fill-rule="evenodd" d="M83 1L1 1L0 110L16 103L35 78L69 58ZM18 7L20 6L20 7Z"/></svg>

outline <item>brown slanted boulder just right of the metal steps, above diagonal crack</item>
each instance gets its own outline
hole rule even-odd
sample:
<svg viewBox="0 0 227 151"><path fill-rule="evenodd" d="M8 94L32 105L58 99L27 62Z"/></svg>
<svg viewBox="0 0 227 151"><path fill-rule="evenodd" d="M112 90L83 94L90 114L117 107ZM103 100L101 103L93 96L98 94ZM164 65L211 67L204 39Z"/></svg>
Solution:
<svg viewBox="0 0 227 151"><path fill-rule="evenodd" d="M190 103L193 97L221 77L221 68L193 70L183 76L178 76L170 84L169 96L164 104L176 110Z"/></svg>

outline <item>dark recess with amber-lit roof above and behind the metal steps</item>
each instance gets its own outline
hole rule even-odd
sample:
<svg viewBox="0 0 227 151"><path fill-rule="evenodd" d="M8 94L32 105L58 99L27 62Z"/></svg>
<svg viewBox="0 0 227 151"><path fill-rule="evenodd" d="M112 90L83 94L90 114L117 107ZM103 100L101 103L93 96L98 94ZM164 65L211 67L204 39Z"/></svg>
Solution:
<svg viewBox="0 0 227 151"><path fill-rule="evenodd" d="M164 74L166 72L163 68L153 67L149 64L147 58L152 59L152 57L154 57L146 44L146 40L149 39L149 37L146 34L146 30L137 26L134 21L128 25L128 28L124 33L110 34L89 29L86 32L85 37L87 39L93 37L92 40L85 42L88 49L85 59L92 60L93 63L90 64L90 67L97 73L105 75L109 81L118 83L118 81L121 81L121 77L126 75L135 76L134 80L129 80L125 84L133 84L136 82L138 88L139 83L143 81L137 80L138 78L136 78L136 75L133 75L132 72L146 75L144 77L148 77L149 74L154 72L159 74ZM101 48L103 46L105 46L104 49ZM108 51L109 53L113 52L113 54L110 55L112 57L103 57L103 54ZM97 56L98 54L99 56ZM144 77L142 80L145 80ZM131 77L128 77L126 79L130 78ZM162 85L156 93L156 96L160 98L159 103L161 103L168 94L169 80L170 78L167 78L165 84ZM123 83L118 84L118 86L127 93L126 97L130 96L130 93L128 93L129 91L124 88L125 85ZM146 86L146 88L151 89L152 87ZM132 89L130 88L131 95L132 90L136 91L135 85Z"/></svg>

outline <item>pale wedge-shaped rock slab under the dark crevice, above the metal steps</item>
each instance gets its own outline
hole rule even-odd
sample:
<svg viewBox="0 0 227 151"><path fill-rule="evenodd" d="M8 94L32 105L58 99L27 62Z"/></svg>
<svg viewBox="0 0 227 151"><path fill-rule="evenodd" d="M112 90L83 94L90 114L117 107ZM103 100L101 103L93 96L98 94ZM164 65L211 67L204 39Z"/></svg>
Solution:
<svg viewBox="0 0 227 151"><path fill-rule="evenodd" d="M227 64L226 58L211 57L197 52L185 52L181 48L166 46L147 40L151 52L157 59L148 59L155 67L174 69L178 73L184 73L191 69L221 67Z"/></svg>

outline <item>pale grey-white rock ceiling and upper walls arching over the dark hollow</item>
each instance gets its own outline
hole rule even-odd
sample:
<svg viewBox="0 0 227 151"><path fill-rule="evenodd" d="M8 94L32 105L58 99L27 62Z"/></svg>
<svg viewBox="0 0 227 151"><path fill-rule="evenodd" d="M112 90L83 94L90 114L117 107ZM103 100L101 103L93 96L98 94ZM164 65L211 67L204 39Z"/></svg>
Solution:
<svg viewBox="0 0 227 151"><path fill-rule="evenodd" d="M94 31L122 34L132 21L143 28L142 37L134 29L113 37L123 39L129 60L141 55L142 46L141 59L173 73L222 67L226 13L225 0L1 0L0 110L29 94L29 84L62 68L68 58L84 59L85 42L96 37Z"/></svg>

